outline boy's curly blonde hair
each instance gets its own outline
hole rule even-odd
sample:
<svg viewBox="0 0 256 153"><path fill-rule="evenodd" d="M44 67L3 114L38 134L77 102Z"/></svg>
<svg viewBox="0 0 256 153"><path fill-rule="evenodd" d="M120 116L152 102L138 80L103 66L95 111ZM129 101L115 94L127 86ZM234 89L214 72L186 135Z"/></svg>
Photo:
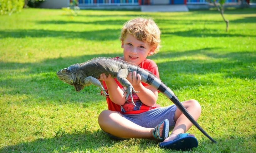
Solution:
<svg viewBox="0 0 256 153"><path fill-rule="evenodd" d="M155 52L159 51L160 46L160 29L156 25L156 22L152 18L138 17L130 21L125 22L122 30L120 40L124 41L127 33L130 33L136 39L148 42L151 47L156 47Z"/></svg>

